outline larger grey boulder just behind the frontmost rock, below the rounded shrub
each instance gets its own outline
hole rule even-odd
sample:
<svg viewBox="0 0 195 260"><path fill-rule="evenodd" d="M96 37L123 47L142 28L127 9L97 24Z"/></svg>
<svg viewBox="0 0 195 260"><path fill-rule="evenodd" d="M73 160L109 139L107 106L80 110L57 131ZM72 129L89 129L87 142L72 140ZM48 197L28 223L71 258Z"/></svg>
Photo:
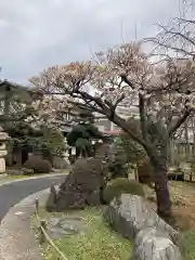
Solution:
<svg viewBox="0 0 195 260"><path fill-rule="evenodd" d="M114 198L104 211L104 217L129 239L134 239L141 230L154 226L168 233L174 244L180 240L179 233L160 219L144 198L136 195L121 194Z"/></svg>

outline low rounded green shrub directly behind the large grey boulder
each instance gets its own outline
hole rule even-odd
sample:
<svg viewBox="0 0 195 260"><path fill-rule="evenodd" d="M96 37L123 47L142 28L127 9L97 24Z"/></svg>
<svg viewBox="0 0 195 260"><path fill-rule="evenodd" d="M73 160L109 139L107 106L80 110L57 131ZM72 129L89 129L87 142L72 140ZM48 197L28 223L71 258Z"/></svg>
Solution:
<svg viewBox="0 0 195 260"><path fill-rule="evenodd" d="M136 181L129 181L126 178L117 178L107 183L103 192L103 199L109 204L114 197L120 196L122 193L144 196L142 184Z"/></svg>

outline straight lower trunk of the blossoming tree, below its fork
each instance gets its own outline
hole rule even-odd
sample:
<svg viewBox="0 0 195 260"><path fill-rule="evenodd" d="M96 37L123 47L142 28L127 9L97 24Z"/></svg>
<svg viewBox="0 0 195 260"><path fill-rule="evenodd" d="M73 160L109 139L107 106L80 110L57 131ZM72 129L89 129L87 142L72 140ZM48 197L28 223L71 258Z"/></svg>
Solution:
<svg viewBox="0 0 195 260"><path fill-rule="evenodd" d="M157 213L167 222L171 218L171 200L167 179L167 160L164 157L155 156L151 158L154 167L154 182L157 200Z"/></svg>

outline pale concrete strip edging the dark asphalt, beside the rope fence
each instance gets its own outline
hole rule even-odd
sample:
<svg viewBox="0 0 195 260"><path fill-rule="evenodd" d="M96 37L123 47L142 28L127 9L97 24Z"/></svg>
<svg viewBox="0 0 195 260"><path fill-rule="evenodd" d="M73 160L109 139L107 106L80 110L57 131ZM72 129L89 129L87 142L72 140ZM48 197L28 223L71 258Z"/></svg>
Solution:
<svg viewBox="0 0 195 260"><path fill-rule="evenodd" d="M57 188L57 186L56 186ZM1 260L41 260L41 250L30 231L30 216L35 211L35 199L44 205L50 188L39 191L22 199L1 221Z"/></svg>

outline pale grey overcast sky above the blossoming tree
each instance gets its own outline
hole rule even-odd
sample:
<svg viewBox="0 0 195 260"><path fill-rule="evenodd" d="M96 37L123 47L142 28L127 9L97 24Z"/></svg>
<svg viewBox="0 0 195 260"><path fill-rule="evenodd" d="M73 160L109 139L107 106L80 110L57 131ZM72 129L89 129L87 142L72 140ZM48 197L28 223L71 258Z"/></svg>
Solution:
<svg viewBox="0 0 195 260"><path fill-rule="evenodd" d="M1 78L27 83L42 69L136 37L178 12L179 0L0 0Z"/></svg>

